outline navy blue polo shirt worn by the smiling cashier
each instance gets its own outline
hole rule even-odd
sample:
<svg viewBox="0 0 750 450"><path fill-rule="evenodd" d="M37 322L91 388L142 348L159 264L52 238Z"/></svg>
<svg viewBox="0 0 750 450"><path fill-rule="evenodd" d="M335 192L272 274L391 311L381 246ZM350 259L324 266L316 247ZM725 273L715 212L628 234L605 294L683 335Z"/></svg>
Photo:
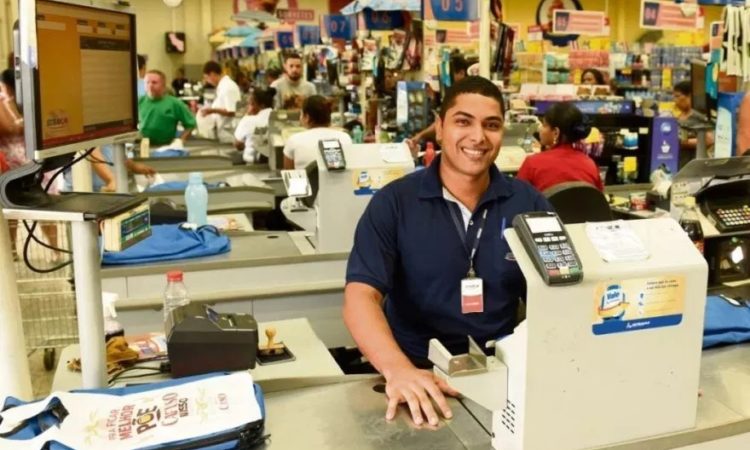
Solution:
<svg viewBox="0 0 750 450"><path fill-rule="evenodd" d="M502 236L516 214L550 211L531 185L502 175L493 164L490 186L459 234L443 197L440 157L425 170L385 186L359 220L349 255L346 282L372 286L385 296L385 315L401 349L413 360L427 358L428 341L438 338L453 354L466 353L466 336L479 345L513 332L518 299L526 282ZM461 280L482 214L487 220L474 269L484 282L484 312L461 312ZM460 217L460 213L458 215ZM463 224L461 224L463 225Z"/></svg>

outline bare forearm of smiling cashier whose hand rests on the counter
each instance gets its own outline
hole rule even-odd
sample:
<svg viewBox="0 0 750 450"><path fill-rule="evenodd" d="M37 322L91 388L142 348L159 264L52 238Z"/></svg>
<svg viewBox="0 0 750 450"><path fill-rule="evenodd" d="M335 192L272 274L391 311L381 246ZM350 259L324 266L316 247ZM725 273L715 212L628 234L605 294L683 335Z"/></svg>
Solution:
<svg viewBox="0 0 750 450"><path fill-rule="evenodd" d="M362 354L386 379L394 368L412 366L393 337L374 289L361 283L347 284L344 323Z"/></svg>

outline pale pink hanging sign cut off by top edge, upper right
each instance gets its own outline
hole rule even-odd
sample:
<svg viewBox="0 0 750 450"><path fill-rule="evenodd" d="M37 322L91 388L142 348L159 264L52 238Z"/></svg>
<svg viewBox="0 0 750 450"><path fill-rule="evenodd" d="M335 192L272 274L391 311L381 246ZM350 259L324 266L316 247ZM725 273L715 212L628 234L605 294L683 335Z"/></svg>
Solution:
<svg viewBox="0 0 750 450"><path fill-rule="evenodd" d="M703 28L703 12L696 3L643 0L641 28L695 31Z"/></svg>

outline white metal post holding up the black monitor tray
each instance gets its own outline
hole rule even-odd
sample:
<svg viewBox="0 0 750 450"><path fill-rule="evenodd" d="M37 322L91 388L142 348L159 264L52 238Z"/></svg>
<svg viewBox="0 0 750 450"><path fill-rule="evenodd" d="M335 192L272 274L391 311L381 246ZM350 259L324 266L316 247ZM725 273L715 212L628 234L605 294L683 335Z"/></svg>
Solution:
<svg viewBox="0 0 750 450"><path fill-rule="evenodd" d="M99 276L99 233L96 222L92 221L72 222L72 229L83 388L101 388L107 385L107 361L104 346L102 280Z"/></svg>

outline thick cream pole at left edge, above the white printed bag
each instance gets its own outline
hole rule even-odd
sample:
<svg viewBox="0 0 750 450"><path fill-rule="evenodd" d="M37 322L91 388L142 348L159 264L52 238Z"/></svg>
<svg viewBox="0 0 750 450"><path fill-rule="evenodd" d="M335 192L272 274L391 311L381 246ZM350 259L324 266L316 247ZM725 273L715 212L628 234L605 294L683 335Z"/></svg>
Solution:
<svg viewBox="0 0 750 450"><path fill-rule="evenodd" d="M0 402L8 395L33 398L10 232L0 208Z"/></svg>

